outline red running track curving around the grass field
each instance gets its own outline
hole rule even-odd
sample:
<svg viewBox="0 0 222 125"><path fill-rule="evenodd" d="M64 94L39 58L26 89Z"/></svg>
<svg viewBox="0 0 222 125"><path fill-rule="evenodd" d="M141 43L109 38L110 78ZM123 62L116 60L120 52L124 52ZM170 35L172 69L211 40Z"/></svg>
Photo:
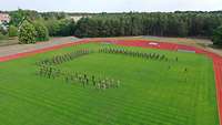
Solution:
<svg viewBox="0 0 222 125"><path fill-rule="evenodd" d="M148 40L83 39L83 40L79 40L78 42L73 42L73 43L65 43L65 44L39 49L39 50L30 51L30 52L18 53L18 54L8 55L8 56L1 56L0 62L6 62L6 61L24 58L24 56L30 56L30 55L34 55L37 53L44 53L47 51L53 51L57 49L62 49L62 48L67 48L67 46L75 45L75 44L83 44L83 43L88 43L88 42L109 42L109 43L124 45L124 46L140 46L140 48L161 49L161 50L169 50L169 51L184 50L184 51L195 52L198 54L204 54L204 55L211 58L213 61L213 69L214 69L219 119L220 119L220 125L222 125L222 56L220 56L215 53L202 50L202 49L194 48L194 46L167 43L167 42L148 41Z"/></svg>

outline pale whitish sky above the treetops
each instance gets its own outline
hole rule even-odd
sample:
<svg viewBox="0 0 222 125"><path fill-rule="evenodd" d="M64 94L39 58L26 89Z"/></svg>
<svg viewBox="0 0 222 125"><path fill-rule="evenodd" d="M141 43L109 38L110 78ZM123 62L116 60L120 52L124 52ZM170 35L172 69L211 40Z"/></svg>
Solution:
<svg viewBox="0 0 222 125"><path fill-rule="evenodd" d="M65 12L171 12L222 10L222 0L0 0L0 10Z"/></svg>

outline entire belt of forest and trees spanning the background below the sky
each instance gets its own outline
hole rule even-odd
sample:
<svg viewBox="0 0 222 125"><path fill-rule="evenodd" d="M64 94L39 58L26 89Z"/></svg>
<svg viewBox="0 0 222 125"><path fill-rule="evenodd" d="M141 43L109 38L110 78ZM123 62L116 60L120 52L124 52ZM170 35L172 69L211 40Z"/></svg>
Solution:
<svg viewBox="0 0 222 125"><path fill-rule="evenodd" d="M194 37L222 44L222 11L65 13L19 9L8 13L11 15L10 25L19 27L23 20L40 22L50 37ZM83 18L73 21L69 18L71 15Z"/></svg>

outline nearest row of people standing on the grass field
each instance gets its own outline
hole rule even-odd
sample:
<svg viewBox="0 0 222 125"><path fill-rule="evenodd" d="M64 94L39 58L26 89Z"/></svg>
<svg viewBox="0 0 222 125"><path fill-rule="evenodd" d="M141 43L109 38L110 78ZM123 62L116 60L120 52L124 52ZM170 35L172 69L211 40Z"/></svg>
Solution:
<svg viewBox="0 0 222 125"><path fill-rule="evenodd" d="M38 74L48 79L59 79L62 77L67 83L80 83L83 87L91 85L95 88L118 88L120 86L120 81L114 79L101 79L95 77L95 75L88 75L87 73L80 72L62 72L50 65L41 65L39 67Z"/></svg>

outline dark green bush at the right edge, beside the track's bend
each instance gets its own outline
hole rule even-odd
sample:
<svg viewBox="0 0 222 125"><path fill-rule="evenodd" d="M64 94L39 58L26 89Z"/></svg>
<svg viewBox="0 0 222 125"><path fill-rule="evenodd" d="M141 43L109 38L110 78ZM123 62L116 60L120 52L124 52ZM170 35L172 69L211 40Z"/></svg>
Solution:
<svg viewBox="0 0 222 125"><path fill-rule="evenodd" d="M222 46L222 25L214 30L212 41L213 44Z"/></svg>

